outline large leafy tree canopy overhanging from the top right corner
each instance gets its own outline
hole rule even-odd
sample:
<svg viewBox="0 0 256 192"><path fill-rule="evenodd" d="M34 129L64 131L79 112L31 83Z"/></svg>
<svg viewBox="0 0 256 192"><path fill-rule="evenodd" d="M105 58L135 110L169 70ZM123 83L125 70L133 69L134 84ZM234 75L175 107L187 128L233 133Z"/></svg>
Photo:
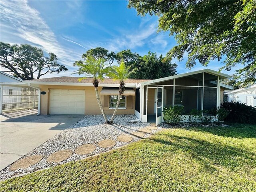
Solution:
<svg viewBox="0 0 256 192"><path fill-rule="evenodd" d="M175 35L178 45L168 52L170 59L188 53L188 68L196 60L207 66L223 59L220 70L242 64L238 78L244 85L256 82L256 0L130 0L128 8L158 16L159 30Z"/></svg>

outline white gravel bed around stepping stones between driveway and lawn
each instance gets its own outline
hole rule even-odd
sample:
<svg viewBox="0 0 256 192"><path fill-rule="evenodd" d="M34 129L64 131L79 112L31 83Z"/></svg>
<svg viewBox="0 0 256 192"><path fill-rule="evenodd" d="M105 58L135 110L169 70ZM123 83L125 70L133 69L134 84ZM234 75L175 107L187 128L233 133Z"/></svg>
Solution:
<svg viewBox="0 0 256 192"><path fill-rule="evenodd" d="M110 116L108 116L108 119L110 119ZM137 119L135 115L116 115L114 119L115 124L109 125L104 124L102 115L86 115L74 125L70 126L66 130L61 131L53 138L22 157L25 158L32 155L42 155L43 158L38 163L28 168L18 169L15 171L11 171L10 166L8 166L1 170L0 179L3 180L13 176L20 176L26 173L34 172L36 170L56 166L58 164L83 159L88 156L106 152L140 140L141 138L138 138L130 133L137 131L140 128L145 128L146 126L149 126L150 123L130 122L130 120L134 119ZM159 131L160 129L162 128L158 127L157 130L152 130L151 134ZM118 141L117 137L124 134L130 134L133 140L131 142ZM151 134L145 133L144 138L150 136ZM98 142L105 139L115 140L116 145L109 148L99 147ZM86 155L75 154L75 149L78 146L84 144L94 144L96 146L96 150ZM49 163L46 161L50 154L64 149L73 151L73 154L70 156L70 158L58 163Z"/></svg>

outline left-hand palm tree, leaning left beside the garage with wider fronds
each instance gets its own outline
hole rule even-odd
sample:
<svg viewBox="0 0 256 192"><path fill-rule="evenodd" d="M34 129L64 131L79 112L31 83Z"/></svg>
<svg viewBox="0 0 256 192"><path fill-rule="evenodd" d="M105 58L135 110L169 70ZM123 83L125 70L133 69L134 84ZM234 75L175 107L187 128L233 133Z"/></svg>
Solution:
<svg viewBox="0 0 256 192"><path fill-rule="evenodd" d="M106 60L104 58L95 59L92 56L88 56L84 62L76 61L74 66L78 66L79 69L75 71L73 74L85 74L86 77L92 78L92 84L95 88L96 98L104 117L105 123L108 124L109 121L104 112L102 103L100 101L100 96L98 92L99 80L104 80L104 76L108 73L109 68L106 67ZM79 78L79 81L86 79L86 77Z"/></svg>

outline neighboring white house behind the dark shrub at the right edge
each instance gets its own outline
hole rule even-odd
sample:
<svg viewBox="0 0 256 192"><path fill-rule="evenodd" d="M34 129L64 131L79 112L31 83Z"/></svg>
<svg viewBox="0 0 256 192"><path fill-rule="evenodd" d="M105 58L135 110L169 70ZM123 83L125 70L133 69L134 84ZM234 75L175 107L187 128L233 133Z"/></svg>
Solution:
<svg viewBox="0 0 256 192"><path fill-rule="evenodd" d="M246 103L248 106L256 106L256 84L234 91L225 92L228 96L228 101L236 101Z"/></svg>

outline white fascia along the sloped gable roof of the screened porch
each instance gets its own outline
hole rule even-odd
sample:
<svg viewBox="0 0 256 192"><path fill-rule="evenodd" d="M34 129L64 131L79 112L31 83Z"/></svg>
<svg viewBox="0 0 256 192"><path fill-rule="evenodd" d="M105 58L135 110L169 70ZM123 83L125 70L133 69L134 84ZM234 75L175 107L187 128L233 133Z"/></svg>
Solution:
<svg viewBox="0 0 256 192"><path fill-rule="evenodd" d="M198 71L193 71L193 72L188 72L188 73L182 73L182 74L178 74L178 75L174 75L174 76L164 77L164 78L160 78L160 79L149 80L146 82L142 82L141 84L146 85L146 84L152 84L152 83L157 83L157 82L163 82L163 81L167 81L167 80L172 80L174 78L181 78L181 77L194 75L194 74L198 74L198 73L203 73L203 72L219 76L219 77L221 77L220 79L225 79L225 78L231 77L228 74L220 73L220 72L217 72L217 71L214 71L211 69L203 69L203 70L198 70Z"/></svg>

